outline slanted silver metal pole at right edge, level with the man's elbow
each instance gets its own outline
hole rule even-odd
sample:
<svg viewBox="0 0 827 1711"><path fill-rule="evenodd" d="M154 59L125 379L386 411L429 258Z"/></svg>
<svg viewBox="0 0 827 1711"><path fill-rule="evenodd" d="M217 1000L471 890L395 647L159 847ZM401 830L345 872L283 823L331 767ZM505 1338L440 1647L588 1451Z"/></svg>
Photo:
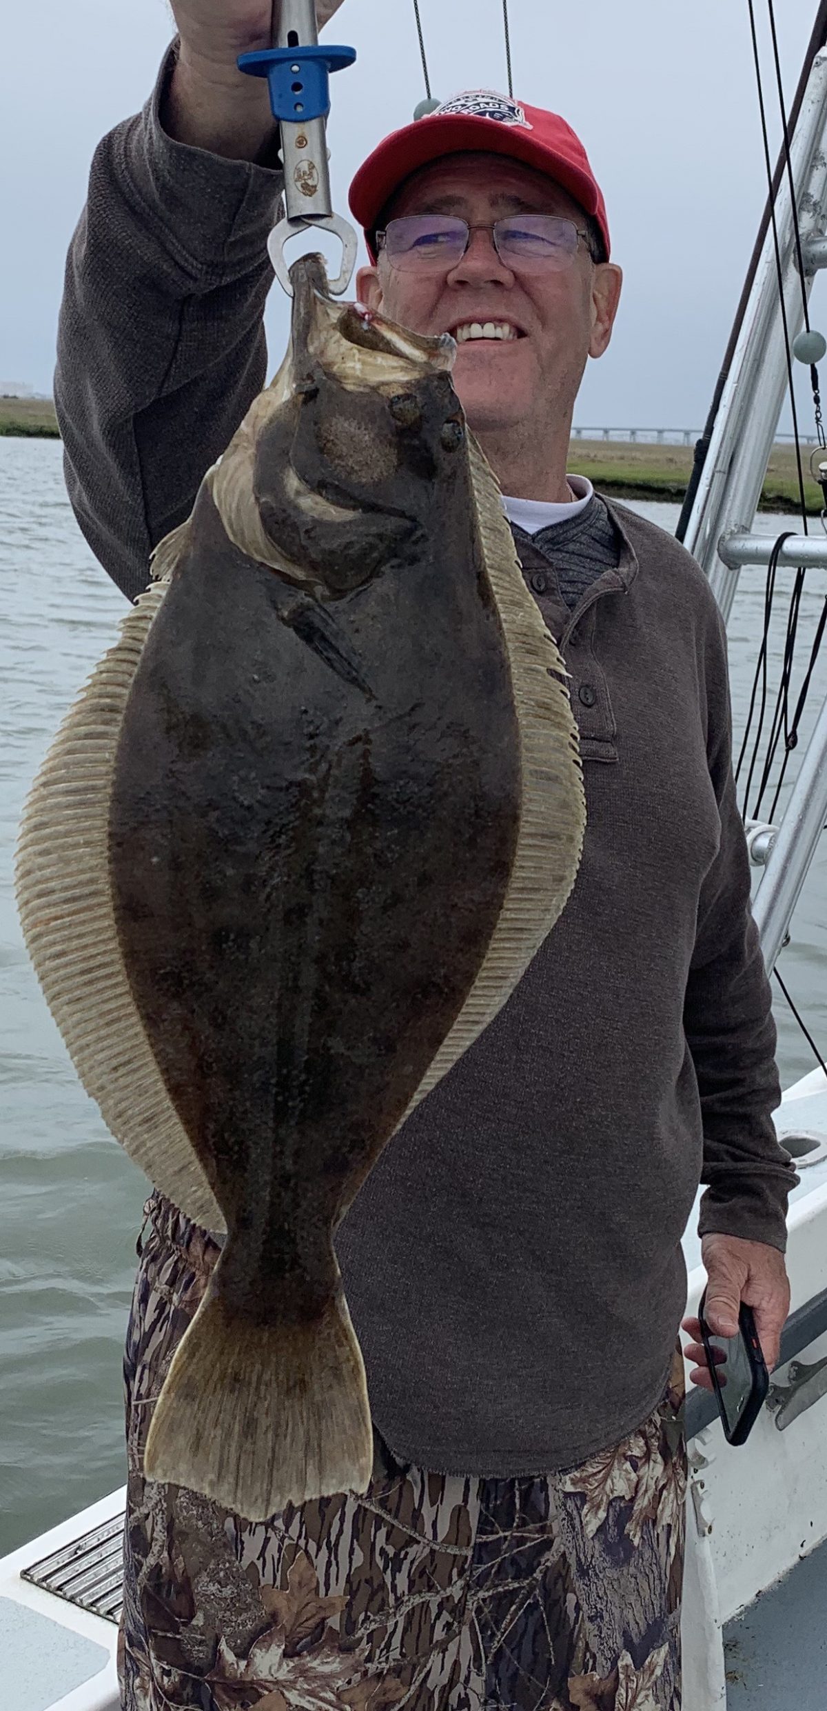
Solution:
<svg viewBox="0 0 827 1711"><path fill-rule="evenodd" d="M752 903L767 974L784 943L810 862L827 821L827 700L806 746L781 830Z"/></svg>

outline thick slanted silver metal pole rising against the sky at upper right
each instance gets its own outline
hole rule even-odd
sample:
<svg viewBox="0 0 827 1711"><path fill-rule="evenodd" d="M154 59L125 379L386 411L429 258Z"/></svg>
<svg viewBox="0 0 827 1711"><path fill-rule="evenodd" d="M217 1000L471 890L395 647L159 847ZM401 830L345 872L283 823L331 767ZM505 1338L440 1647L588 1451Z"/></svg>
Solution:
<svg viewBox="0 0 827 1711"><path fill-rule="evenodd" d="M827 229L827 55L813 62L801 116L793 139L793 181L801 236ZM795 222L784 178L776 202L789 334L803 327L801 281L793 263ZM812 275L806 279L812 289ZM685 546L709 577L724 623L738 587L738 568L718 556L718 542L745 534L754 522L784 402L786 351L781 325L776 252L767 233L755 284L743 318L709 455L689 520Z"/></svg>

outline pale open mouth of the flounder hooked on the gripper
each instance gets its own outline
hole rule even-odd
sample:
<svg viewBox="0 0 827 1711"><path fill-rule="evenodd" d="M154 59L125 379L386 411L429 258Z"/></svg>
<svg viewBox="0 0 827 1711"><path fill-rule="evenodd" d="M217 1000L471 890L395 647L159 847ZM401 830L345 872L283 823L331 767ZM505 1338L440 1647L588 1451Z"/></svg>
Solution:
<svg viewBox="0 0 827 1711"><path fill-rule="evenodd" d="M333 303L321 255L290 267L294 371L320 364L343 387L391 392L424 373L449 373L456 342L449 334L417 334L364 303Z"/></svg>

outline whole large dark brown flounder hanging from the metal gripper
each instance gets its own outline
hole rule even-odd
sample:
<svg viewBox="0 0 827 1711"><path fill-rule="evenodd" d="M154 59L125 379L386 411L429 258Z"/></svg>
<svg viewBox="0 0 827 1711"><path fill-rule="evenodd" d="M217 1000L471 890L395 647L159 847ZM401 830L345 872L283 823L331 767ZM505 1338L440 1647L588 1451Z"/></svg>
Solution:
<svg viewBox="0 0 827 1711"><path fill-rule="evenodd" d="M560 655L456 346L292 269L285 363L26 804L26 941L111 1133L219 1264L145 1473L249 1519L364 1492L333 1234L574 885Z"/></svg>

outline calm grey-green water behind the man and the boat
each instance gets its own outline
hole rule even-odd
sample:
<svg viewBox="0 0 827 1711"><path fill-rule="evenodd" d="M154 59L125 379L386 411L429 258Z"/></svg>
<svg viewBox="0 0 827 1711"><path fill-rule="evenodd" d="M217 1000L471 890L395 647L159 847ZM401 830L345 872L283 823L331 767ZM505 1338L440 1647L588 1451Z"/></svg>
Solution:
<svg viewBox="0 0 827 1711"><path fill-rule="evenodd" d="M641 505L673 529L677 508ZM795 527L760 518L767 534ZM791 573L779 577L788 606ZM805 652L827 575L808 573ZM125 1480L121 1348L145 1179L82 1092L22 948L12 845L24 794L126 604L96 565L68 506L56 441L0 440L0 1555ZM762 633L764 575L742 578L730 625L736 731ZM783 648L776 619L771 683ZM827 648L813 708L827 695ZM769 806L769 802L767 802ZM827 1047L827 850L793 922L783 974ZM813 1057L777 1003L781 1080Z"/></svg>

